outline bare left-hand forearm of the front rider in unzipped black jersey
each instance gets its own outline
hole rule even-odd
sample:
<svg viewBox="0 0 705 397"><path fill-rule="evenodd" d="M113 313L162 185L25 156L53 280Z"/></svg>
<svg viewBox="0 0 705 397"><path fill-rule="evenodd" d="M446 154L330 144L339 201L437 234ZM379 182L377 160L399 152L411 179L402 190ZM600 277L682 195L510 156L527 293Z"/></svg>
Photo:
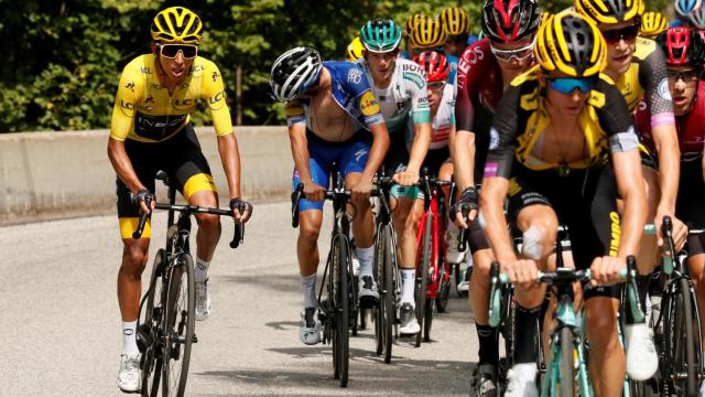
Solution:
<svg viewBox="0 0 705 397"><path fill-rule="evenodd" d="M480 208L489 245L500 262L514 261L517 256L507 233L508 226L505 217L505 197L507 196L509 181L502 178L489 178L482 182Z"/></svg>

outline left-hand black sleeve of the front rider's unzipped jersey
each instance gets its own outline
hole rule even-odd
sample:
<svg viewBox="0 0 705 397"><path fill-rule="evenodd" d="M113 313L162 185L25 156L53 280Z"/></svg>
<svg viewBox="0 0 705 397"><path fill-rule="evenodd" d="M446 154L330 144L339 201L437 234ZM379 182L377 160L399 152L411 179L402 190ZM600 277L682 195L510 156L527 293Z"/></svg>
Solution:
<svg viewBox="0 0 705 397"><path fill-rule="evenodd" d="M510 86L497 106L489 130L489 150L485 162L485 178L509 179L519 133L521 86Z"/></svg>

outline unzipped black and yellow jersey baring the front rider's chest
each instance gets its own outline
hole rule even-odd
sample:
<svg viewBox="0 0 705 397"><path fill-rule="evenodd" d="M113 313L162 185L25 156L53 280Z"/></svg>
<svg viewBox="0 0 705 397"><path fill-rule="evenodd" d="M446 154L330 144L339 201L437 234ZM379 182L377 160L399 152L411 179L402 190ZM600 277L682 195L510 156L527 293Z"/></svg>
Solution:
<svg viewBox="0 0 705 397"><path fill-rule="evenodd" d="M532 149L542 141L542 132L551 122L539 71L540 66L535 66L518 76L505 92L492 119L485 176L508 179L514 159L536 171L561 165L585 169L601 163L610 151L637 148L638 138L627 103L609 77L600 75L579 116L578 124L585 135L585 158L568 164L536 158Z"/></svg>

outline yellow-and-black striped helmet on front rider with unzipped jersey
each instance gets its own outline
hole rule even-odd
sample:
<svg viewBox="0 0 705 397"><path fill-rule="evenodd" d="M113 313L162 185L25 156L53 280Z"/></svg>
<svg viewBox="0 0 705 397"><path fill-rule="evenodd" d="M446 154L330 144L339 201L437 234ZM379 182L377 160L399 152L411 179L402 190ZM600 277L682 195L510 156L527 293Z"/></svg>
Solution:
<svg viewBox="0 0 705 397"><path fill-rule="evenodd" d="M607 44L595 23L566 10L541 24L534 56L544 71L589 77L607 65Z"/></svg>

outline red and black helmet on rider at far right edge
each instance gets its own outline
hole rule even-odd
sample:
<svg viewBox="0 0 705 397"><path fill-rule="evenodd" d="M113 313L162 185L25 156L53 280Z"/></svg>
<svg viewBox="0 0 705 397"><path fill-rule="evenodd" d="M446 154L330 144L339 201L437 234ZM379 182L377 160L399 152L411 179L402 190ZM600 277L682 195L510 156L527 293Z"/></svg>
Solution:
<svg viewBox="0 0 705 397"><path fill-rule="evenodd" d="M701 66L703 40L694 30L684 26L670 28L659 34L657 42L671 66Z"/></svg>

